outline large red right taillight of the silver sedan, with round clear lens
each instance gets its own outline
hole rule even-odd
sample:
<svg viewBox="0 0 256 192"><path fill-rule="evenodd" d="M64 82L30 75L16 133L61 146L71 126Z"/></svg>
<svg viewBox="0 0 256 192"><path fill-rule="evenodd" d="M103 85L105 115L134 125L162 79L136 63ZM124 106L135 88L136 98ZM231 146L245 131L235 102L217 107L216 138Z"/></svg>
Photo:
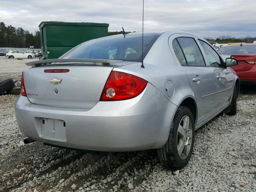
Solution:
<svg viewBox="0 0 256 192"><path fill-rule="evenodd" d="M124 72L112 71L101 94L101 101L126 100L138 96L148 82Z"/></svg>

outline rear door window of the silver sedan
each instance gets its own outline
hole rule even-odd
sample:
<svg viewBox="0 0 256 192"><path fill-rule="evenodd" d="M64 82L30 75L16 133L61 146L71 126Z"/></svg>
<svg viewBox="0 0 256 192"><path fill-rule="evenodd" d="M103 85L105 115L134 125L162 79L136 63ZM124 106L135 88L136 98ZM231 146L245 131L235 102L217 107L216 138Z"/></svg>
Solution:
<svg viewBox="0 0 256 192"><path fill-rule="evenodd" d="M198 45L196 44L196 41L194 40L194 38L179 37L177 38L177 41L184 52L188 65L206 66L203 55Z"/></svg>

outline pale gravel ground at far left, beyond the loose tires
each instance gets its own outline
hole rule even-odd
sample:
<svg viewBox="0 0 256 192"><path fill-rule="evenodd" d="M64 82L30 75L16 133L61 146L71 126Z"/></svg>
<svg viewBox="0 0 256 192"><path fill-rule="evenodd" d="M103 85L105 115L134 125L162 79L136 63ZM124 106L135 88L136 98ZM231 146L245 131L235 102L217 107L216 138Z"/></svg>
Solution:
<svg viewBox="0 0 256 192"><path fill-rule="evenodd" d="M38 60L38 58L17 60L0 56L0 82L10 78L14 81L21 80L22 71L30 68L30 66L26 66L25 63L36 60Z"/></svg>

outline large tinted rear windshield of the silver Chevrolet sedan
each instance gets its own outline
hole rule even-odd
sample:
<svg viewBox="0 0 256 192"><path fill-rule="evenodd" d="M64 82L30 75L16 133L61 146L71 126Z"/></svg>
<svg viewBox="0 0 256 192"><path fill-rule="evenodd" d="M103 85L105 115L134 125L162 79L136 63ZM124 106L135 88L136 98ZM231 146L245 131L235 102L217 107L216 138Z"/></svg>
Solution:
<svg viewBox="0 0 256 192"><path fill-rule="evenodd" d="M144 34L143 59L161 34ZM142 34L110 36L84 42L60 58L110 59L141 62Z"/></svg>

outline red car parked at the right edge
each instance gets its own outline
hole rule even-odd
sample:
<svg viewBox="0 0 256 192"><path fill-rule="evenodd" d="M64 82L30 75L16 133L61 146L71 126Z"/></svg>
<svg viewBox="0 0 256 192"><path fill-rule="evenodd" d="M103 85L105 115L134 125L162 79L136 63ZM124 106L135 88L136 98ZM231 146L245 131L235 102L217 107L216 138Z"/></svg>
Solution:
<svg viewBox="0 0 256 192"><path fill-rule="evenodd" d="M240 78L241 84L256 85L256 44L233 44L218 50L222 58L234 57L238 65L232 66Z"/></svg>

